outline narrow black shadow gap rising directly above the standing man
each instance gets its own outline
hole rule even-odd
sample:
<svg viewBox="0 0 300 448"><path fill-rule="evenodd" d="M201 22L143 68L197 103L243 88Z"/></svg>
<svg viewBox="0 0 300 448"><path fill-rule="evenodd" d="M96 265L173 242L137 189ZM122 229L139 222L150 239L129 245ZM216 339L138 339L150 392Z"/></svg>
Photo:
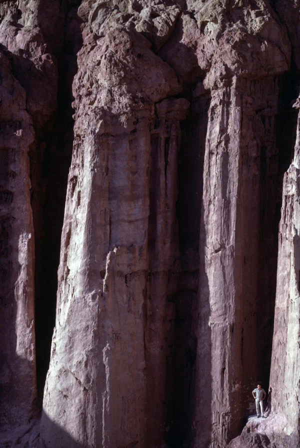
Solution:
<svg viewBox="0 0 300 448"><path fill-rule="evenodd" d="M275 115L275 146L273 153L261 148L260 241L259 241L259 311L257 313L258 377L268 388L278 258L278 230L282 204L284 172L294 151L297 109L292 107L298 96L299 75L292 67L290 73L278 77L279 98ZM276 171L274 171L274 167Z"/></svg>

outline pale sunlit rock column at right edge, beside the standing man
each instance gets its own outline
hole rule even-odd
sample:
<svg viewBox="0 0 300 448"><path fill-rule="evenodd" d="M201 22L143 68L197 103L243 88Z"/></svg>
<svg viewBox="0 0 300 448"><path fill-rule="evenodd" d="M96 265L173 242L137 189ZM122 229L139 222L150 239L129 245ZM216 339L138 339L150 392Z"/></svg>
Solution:
<svg viewBox="0 0 300 448"><path fill-rule="evenodd" d="M298 446L300 436L300 119L294 157L283 179L270 386L277 437Z"/></svg>

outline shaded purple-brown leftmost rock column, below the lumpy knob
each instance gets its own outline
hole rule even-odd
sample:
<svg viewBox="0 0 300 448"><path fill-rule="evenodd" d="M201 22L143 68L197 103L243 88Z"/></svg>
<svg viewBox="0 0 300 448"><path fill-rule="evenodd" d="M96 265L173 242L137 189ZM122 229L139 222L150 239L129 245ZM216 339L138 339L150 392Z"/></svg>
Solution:
<svg viewBox="0 0 300 448"><path fill-rule="evenodd" d="M0 53L0 426L35 415L34 243L26 95ZM3 431L4 432L4 431Z"/></svg>

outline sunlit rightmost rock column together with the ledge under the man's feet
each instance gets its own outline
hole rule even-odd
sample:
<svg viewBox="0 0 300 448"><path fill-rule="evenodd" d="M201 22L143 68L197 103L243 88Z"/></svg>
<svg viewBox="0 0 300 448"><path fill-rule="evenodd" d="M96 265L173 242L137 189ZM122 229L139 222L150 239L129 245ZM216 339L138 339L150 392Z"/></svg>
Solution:
<svg viewBox="0 0 300 448"><path fill-rule="evenodd" d="M299 446L298 157L299 121L293 160L283 179L267 418L249 421L230 448Z"/></svg>

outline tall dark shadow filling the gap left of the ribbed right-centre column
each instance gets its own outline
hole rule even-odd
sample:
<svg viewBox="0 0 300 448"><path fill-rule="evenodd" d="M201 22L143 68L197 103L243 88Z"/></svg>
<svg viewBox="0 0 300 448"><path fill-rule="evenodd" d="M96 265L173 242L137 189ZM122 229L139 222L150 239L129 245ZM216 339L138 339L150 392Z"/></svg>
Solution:
<svg viewBox="0 0 300 448"><path fill-rule="evenodd" d="M205 235L200 236L203 224L203 164L210 98L203 95L193 99L191 93L190 89L188 99L191 106L186 119L181 122L182 136L178 154L176 214L182 278L179 281L181 290L173 296L176 317L172 419L166 438L171 448L192 446L199 433L201 446L204 447L205 443L208 444L211 433L210 306L204 268ZM202 297L200 290L206 291ZM203 344L201 337L205 339L205 353L201 351L199 359L198 350ZM202 394L201 390L205 390L205 393ZM199 409L202 409L200 415Z"/></svg>

